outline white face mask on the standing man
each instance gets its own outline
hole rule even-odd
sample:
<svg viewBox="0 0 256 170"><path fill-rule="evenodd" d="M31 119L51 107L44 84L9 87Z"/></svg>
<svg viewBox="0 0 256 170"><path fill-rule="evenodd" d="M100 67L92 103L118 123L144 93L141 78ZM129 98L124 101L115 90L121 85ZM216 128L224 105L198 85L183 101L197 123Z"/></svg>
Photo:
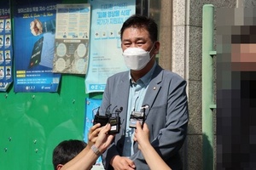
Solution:
<svg viewBox="0 0 256 170"><path fill-rule="evenodd" d="M152 46L152 48L154 45ZM133 71L140 71L142 70L152 59L150 57L150 51L145 51L143 48L127 48L123 52L123 56L125 59L125 65Z"/></svg>

